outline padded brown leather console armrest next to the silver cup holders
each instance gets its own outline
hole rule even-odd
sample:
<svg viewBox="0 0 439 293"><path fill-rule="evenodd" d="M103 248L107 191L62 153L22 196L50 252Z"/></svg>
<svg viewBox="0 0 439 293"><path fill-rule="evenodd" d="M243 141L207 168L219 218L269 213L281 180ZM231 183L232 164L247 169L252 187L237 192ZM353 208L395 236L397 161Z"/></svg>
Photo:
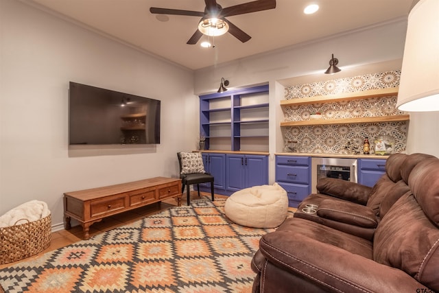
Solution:
<svg viewBox="0 0 439 293"><path fill-rule="evenodd" d="M377 217L369 207L340 200L322 200L317 209L321 218L364 228L377 228Z"/></svg>

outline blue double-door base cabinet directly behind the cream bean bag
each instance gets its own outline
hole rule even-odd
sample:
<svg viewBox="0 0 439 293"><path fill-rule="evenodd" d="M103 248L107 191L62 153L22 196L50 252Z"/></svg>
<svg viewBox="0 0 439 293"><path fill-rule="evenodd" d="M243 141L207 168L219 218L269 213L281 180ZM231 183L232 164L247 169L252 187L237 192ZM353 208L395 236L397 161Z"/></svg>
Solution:
<svg viewBox="0 0 439 293"><path fill-rule="evenodd" d="M226 191L268 184L268 156L226 154Z"/></svg>

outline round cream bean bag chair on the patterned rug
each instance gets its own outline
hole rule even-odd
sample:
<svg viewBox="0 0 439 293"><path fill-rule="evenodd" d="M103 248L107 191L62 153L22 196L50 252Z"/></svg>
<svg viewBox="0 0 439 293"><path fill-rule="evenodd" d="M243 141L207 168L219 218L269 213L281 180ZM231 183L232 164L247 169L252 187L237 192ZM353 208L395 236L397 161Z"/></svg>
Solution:
<svg viewBox="0 0 439 293"><path fill-rule="evenodd" d="M287 191L277 183L241 189L227 198L224 211L242 226L274 228L287 218Z"/></svg>

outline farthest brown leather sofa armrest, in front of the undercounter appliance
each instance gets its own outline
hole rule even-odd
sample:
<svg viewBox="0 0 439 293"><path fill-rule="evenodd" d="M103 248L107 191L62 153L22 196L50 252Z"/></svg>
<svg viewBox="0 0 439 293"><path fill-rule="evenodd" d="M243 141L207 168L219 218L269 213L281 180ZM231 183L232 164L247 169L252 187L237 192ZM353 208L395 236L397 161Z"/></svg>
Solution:
<svg viewBox="0 0 439 293"><path fill-rule="evenodd" d="M366 205L372 187L337 178L321 178L316 188L320 194Z"/></svg>

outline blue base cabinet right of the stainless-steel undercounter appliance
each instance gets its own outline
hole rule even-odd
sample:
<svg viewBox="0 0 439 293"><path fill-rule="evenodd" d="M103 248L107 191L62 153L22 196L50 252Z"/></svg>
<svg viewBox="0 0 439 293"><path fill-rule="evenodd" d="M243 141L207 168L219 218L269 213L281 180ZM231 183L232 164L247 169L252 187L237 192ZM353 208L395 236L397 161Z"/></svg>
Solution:
<svg viewBox="0 0 439 293"><path fill-rule="evenodd" d="M358 183L372 187L385 174L385 159L359 159L358 170Z"/></svg>

